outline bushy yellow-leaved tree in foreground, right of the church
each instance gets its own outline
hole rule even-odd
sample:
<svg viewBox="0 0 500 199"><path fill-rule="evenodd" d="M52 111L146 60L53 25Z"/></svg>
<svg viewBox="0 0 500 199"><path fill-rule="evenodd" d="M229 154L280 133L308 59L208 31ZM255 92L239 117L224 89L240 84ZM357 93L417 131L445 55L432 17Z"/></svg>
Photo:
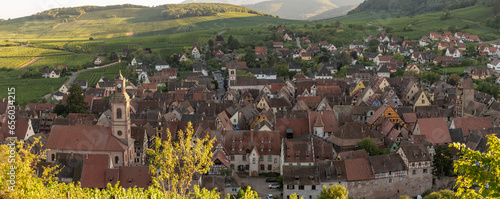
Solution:
<svg viewBox="0 0 500 199"><path fill-rule="evenodd" d="M168 198L179 198L185 195L191 186L195 173L206 173L212 162L212 148L215 138L194 139L191 122L185 131L177 132L178 141L172 140L172 133L167 131L165 141L156 138L153 149L148 149L151 156L150 171L156 173L153 185Z"/></svg>

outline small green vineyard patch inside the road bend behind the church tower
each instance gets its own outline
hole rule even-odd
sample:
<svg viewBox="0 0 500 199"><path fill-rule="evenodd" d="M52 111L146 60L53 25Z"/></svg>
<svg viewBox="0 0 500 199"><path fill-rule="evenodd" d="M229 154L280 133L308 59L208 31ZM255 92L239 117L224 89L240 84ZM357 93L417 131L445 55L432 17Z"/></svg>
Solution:
<svg viewBox="0 0 500 199"><path fill-rule="evenodd" d="M114 79L115 76L118 74L118 71L121 68L127 67L126 64L116 64L113 66L108 66L105 68L99 68L99 69L93 69L93 70L87 70L84 72L81 72L78 74L76 77L77 80L87 80L88 85L91 87L95 87L99 79L101 77L106 77L108 79Z"/></svg>

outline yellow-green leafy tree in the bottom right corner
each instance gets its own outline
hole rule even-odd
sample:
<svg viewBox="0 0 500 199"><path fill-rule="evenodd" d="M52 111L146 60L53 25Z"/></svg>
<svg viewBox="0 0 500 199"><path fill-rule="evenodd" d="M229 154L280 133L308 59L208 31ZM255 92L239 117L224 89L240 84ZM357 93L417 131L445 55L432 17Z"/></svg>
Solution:
<svg viewBox="0 0 500 199"><path fill-rule="evenodd" d="M455 188L456 196L461 198L498 198L500 197L500 139L487 135L488 149L481 153L465 144L453 143L462 156L455 161L453 170L458 174ZM478 191L471 187L479 187Z"/></svg>

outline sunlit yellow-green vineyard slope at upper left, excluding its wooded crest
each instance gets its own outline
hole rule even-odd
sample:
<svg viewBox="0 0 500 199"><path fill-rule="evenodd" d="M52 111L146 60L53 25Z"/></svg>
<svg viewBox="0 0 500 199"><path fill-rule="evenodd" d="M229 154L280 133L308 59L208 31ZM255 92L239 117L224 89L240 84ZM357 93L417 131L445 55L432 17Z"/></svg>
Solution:
<svg viewBox="0 0 500 199"><path fill-rule="evenodd" d="M150 36L204 29L266 24L300 23L249 13L165 20L161 8L122 8L85 13L76 20L32 20L31 17L0 22L0 39L88 39Z"/></svg>

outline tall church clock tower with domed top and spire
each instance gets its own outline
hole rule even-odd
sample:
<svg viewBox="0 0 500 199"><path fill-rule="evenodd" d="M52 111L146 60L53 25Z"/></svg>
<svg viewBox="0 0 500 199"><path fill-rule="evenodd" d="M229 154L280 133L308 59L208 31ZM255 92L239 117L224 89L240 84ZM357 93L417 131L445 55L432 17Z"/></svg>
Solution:
<svg viewBox="0 0 500 199"><path fill-rule="evenodd" d="M125 78L123 78L120 71L120 77L115 80L115 93L110 98L111 131L113 136L125 145L131 146L133 143L130 130L130 97L125 87Z"/></svg>

